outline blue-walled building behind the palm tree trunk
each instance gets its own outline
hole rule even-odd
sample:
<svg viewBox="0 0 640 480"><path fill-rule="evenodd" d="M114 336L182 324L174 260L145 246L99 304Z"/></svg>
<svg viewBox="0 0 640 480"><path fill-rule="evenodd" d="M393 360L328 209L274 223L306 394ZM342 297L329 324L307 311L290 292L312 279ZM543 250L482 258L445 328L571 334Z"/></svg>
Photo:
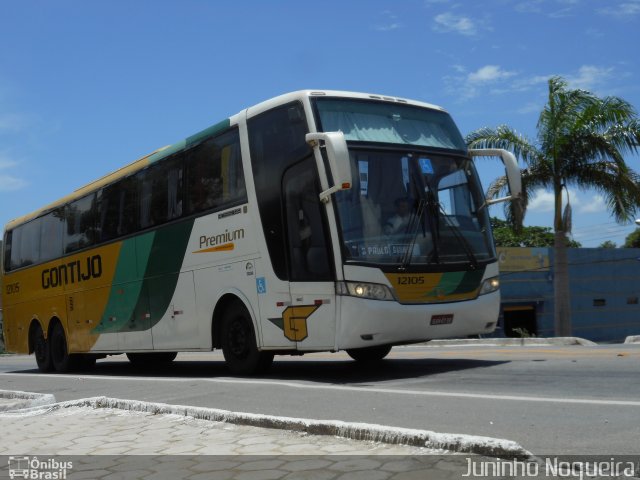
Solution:
<svg viewBox="0 0 640 480"><path fill-rule="evenodd" d="M569 249L573 336L621 342L640 335L640 249ZM554 336L553 249L499 248L498 336Z"/></svg>

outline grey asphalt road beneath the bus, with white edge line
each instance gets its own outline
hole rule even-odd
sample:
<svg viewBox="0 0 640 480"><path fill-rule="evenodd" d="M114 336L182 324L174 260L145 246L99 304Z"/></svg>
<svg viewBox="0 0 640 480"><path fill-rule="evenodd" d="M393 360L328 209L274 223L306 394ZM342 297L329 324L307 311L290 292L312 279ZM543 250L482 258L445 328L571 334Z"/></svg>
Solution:
<svg viewBox="0 0 640 480"><path fill-rule="evenodd" d="M640 455L640 345L396 347L375 367L341 353L276 357L260 378L229 376L218 352L180 354L162 371L114 356L73 375L0 356L0 389L484 435L538 455Z"/></svg>

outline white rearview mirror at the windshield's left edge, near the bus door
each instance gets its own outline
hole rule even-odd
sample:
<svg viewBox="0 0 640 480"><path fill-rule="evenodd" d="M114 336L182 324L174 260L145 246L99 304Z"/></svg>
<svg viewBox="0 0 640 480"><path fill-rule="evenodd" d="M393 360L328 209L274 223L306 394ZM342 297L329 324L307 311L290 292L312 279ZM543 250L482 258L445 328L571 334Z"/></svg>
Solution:
<svg viewBox="0 0 640 480"><path fill-rule="evenodd" d="M329 168L331 169L333 186L329 186L326 179L322 179L321 175L322 188L325 190L320 192L320 201L326 203L332 193L350 189L351 161L349 160L349 149L347 148L344 134L342 132L307 133L305 140L316 151L315 157L316 162L318 162L319 172L324 171L320 152L320 148L323 146L320 142L323 142L327 160L329 161Z"/></svg>

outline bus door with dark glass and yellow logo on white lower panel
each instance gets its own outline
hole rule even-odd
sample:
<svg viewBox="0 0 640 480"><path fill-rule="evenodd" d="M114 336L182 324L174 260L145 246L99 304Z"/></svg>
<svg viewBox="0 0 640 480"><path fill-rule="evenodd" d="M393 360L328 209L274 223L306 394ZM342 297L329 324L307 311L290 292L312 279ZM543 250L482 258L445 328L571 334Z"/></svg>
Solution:
<svg viewBox="0 0 640 480"><path fill-rule="evenodd" d="M335 344L334 267L319 192L312 156L285 171L291 305L282 317L285 337L295 341L299 350L331 349Z"/></svg>

